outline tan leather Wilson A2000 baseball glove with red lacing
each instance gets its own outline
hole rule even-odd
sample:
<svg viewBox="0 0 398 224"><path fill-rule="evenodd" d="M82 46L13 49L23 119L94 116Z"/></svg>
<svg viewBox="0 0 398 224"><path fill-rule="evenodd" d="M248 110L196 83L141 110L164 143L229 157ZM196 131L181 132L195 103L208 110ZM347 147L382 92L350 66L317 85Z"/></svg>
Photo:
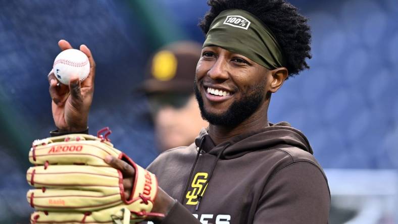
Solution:
<svg viewBox="0 0 398 224"><path fill-rule="evenodd" d="M35 189L27 200L35 209L31 223L136 223L152 213L158 190L154 174L115 149L107 138L70 134L36 140L29 152L35 166L26 174ZM112 155L133 166L130 198L125 198L123 176L104 158Z"/></svg>

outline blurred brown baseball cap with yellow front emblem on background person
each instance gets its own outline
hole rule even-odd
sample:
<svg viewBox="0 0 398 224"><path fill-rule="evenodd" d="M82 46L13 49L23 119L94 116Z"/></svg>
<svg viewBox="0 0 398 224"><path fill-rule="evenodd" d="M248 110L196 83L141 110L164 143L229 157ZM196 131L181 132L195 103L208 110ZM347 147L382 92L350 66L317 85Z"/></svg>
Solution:
<svg viewBox="0 0 398 224"><path fill-rule="evenodd" d="M202 45L193 41L168 44L148 60L145 78L139 89L146 94L193 93L193 82Z"/></svg>

